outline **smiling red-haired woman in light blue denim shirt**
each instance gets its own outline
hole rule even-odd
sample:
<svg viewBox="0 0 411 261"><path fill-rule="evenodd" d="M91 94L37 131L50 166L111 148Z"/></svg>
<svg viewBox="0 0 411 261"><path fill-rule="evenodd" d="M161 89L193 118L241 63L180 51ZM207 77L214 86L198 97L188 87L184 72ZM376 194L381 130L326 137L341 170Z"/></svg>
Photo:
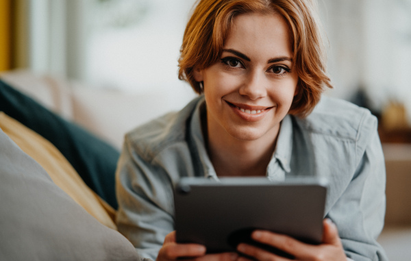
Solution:
<svg viewBox="0 0 411 261"><path fill-rule="evenodd" d="M142 256L245 259L175 243L173 186L180 177L323 175L330 186L321 245L267 231L253 239L297 260L386 260L376 243L385 211L377 121L368 110L321 99L332 86L314 10L310 0L199 1L184 34L179 78L200 96L129 132L119 160L117 223ZM245 244L237 250L286 260Z"/></svg>

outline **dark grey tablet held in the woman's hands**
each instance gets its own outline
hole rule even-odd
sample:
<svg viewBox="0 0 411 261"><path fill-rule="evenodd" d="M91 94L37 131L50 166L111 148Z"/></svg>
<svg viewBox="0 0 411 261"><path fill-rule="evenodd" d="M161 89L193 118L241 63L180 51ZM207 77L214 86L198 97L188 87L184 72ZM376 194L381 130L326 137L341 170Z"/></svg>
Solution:
<svg viewBox="0 0 411 261"><path fill-rule="evenodd" d="M316 178L184 177L174 190L176 240L205 245L208 253L235 251L245 242L287 256L251 240L251 232L321 243L326 192L325 180Z"/></svg>

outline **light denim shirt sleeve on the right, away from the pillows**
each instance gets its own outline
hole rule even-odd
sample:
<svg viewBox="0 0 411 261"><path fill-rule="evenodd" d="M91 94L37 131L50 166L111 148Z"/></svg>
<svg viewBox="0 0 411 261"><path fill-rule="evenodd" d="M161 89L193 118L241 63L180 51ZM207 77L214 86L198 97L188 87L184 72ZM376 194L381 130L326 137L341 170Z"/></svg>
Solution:
<svg viewBox="0 0 411 261"><path fill-rule="evenodd" d="M348 258L388 260L377 243L384 227L386 171L377 121L371 115L360 127L356 153L356 171L327 217L336 223Z"/></svg>

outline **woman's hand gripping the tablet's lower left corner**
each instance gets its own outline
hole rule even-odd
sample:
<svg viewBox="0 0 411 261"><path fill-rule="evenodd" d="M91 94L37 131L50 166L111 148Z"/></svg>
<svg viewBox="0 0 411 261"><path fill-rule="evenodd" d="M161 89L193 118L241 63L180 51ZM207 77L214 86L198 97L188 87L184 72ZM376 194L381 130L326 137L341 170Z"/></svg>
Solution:
<svg viewBox="0 0 411 261"><path fill-rule="evenodd" d="M177 258L192 259L196 261L235 261L236 253L207 254L206 247L198 244L177 244L175 231L164 239L164 243L158 252L157 261L177 260Z"/></svg>

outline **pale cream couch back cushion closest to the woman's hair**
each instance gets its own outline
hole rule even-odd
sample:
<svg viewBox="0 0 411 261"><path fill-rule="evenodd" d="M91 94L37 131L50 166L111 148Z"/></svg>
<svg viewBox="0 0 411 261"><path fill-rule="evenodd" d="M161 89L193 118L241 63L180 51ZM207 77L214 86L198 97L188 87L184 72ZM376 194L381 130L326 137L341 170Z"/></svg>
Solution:
<svg viewBox="0 0 411 261"><path fill-rule="evenodd" d="M121 149L124 135L131 129L172 110L181 110L195 97L190 88L122 92L78 83L71 87L73 121L116 149Z"/></svg>

